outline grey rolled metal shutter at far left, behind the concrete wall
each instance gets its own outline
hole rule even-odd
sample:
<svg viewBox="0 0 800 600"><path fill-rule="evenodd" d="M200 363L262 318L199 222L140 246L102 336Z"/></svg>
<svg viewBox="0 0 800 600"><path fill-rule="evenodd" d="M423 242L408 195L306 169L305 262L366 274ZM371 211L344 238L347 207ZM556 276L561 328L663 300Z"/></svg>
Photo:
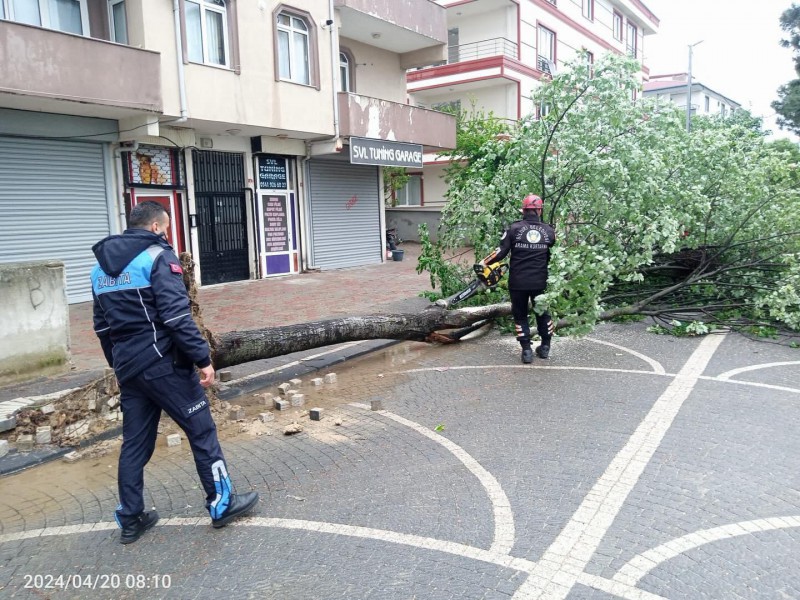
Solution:
<svg viewBox="0 0 800 600"><path fill-rule="evenodd" d="M102 144L0 137L0 262L60 260L67 299L85 302L108 234Z"/></svg>

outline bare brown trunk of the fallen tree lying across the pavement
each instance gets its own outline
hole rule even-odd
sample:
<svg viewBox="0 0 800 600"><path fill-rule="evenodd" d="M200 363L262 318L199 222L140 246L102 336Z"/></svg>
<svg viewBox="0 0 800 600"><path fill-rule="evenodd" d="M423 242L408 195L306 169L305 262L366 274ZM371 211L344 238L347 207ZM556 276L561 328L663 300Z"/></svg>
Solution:
<svg viewBox="0 0 800 600"><path fill-rule="evenodd" d="M460 337L458 333L448 335L439 332L470 329L471 325L478 322L510 314L510 304L492 304L458 310L431 306L414 314L341 317L297 325L230 331L213 335L211 344L213 361L216 368L230 367L263 358L359 340L454 342Z"/></svg>

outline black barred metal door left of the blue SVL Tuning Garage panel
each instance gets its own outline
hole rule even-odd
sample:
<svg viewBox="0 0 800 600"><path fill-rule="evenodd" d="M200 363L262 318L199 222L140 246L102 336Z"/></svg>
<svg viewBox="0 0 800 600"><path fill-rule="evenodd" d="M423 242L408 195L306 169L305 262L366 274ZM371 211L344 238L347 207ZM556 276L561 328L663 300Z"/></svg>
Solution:
<svg viewBox="0 0 800 600"><path fill-rule="evenodd" d="M200 282L248 279L244 156L195 151L193 166Z"/></svg>

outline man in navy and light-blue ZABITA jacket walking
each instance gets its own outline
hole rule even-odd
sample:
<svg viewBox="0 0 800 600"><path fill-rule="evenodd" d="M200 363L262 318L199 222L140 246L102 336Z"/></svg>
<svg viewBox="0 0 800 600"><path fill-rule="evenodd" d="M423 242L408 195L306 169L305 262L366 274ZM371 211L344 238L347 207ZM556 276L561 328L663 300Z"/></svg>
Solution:
<svg viewBox="0 0 800 600"><path fill-rule="evenodd" d="M94 328L114 367L122 404L115 518L123 544L135 542L158 521L158 513L144 511L143 491L162 409L189 440L214 527L224 527L258 502L256 492L231 489L203 391L214 383L214 367L192 319L180 262L166 241L169 219L157 202L142 202L131 210L129 229L92 247Z"/></svg>

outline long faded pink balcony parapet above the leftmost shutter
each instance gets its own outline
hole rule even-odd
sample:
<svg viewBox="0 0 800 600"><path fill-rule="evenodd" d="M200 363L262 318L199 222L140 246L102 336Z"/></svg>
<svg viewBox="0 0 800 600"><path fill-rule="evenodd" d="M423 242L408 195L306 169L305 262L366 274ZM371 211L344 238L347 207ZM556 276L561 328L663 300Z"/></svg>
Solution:
<svg viewBox="0 0 800 600"><path fill-rule="evenodd" d="M111 119L160 113L161 57L0 21L0 106Z"/></svg>

